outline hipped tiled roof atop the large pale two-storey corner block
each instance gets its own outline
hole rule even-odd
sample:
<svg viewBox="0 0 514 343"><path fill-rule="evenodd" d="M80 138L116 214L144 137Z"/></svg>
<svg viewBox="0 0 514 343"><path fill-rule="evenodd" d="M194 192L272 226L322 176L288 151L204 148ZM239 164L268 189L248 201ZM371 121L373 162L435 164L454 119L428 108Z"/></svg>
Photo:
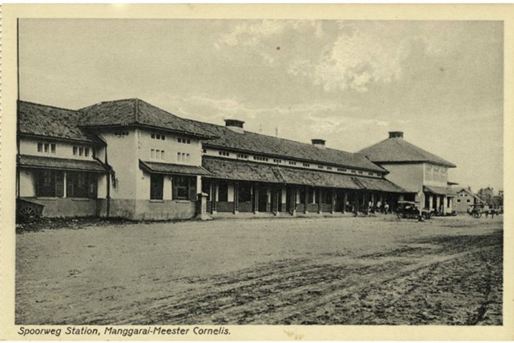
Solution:
<svg viewBox="0 0 514 343"><path fill-rule="evenodd" d="M211 137L210 132L203 130L191 121L177 117L140 99L99 102L82 108L80 112L84 115L79 125L85 127L142 125L197 137Z"/></svg>

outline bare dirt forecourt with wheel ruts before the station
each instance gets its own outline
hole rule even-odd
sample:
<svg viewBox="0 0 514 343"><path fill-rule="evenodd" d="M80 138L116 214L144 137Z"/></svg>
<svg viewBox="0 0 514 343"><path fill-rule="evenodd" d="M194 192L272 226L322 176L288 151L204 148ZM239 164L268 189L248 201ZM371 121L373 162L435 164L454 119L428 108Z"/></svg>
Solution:
<svg viewBox="0 0 514 343"><path fill-rule="evenodd" d="M502 324L502 217L16 235L17 324Z"/></svg>

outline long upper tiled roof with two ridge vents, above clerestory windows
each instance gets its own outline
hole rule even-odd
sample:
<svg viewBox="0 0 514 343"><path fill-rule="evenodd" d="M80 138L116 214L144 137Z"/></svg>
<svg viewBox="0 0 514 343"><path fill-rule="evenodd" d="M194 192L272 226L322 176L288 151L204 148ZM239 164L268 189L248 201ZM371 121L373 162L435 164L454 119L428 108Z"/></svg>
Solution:
<svg viewBox="0 0 514 343"><path fill-rule="evenodd" d="M362 154L354 154L330 148L319 148L312 144L291 141L278 137L267 136L255 132L234 132L225 126L219 126L201 121L191 121L204 130L219 137L204 142L204 145L239 150L253 154L265 154L278 158L291 158L309 163L322 163L366 169L379 173L386 172L382 167L372 163Z"/></svg>

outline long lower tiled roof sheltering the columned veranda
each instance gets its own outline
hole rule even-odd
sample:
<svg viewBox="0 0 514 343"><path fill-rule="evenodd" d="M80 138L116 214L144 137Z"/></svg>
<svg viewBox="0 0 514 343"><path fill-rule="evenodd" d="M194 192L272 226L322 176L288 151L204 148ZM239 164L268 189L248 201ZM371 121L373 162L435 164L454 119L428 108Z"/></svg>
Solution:
<svg viewBox="0 0 514 343"><path fill-rule="evenodd" d="M400 193L404 189L383 178L363 178L328 171L282 167L266 163L236 161L204 156L201 163L213 178L228 180L289 183L315 187L369 189Z"/></svg>

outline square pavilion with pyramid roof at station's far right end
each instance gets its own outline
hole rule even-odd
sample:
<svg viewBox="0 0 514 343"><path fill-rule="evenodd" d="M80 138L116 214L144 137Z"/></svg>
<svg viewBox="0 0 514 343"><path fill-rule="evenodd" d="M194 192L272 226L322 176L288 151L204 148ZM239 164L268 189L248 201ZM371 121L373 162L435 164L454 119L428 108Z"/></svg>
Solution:
<svg viewBox="0 0 514 343"><path fill-rule="evenodd" d="M455 191L448 182L451 162L408 143L400 131L389 138L360 150L370 161L387 171L386 178L406 190L405 200L419 202L426 209L451 213Z"/></svg>

